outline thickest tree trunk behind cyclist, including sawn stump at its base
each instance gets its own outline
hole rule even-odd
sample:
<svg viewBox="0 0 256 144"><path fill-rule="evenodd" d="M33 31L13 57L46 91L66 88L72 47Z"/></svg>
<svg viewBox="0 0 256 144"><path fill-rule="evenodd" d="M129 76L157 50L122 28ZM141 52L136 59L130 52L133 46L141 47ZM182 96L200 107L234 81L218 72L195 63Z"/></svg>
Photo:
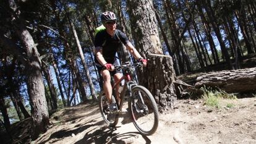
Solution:
<svg viewBox="0 0 256 144"><path fill-rule="evenodd" d="M172 57L164 56L158 35L157 20L150 0L128 0L129 15L135 47L143 57L150 58L148 66L139 71L139 83L147 87L157 103L166 108L176 97Z"/></svg>

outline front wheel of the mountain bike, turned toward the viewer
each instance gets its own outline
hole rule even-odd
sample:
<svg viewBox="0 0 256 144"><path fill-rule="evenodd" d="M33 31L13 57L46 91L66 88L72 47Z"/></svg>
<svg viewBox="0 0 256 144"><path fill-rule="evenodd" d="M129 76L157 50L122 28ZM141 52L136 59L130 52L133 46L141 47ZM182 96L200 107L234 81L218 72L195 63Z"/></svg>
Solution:
<svg viewBox="0 0 256 144"><path fill-rule="evenodd" d="M150 91L137 85L132 88L129 111L137 130L143 135L152 135L158 127L158 108Z"/></svg>

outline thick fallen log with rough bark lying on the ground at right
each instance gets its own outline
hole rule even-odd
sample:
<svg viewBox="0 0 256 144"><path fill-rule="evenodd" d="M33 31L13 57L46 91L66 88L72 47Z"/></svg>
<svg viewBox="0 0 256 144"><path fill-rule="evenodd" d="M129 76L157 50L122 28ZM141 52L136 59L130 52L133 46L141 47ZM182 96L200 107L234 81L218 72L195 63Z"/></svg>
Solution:
<svg viewBox="0 0 256 144"><path fill-rule="evenodd" d="M239 70L223 70L197 77L195 88L203 86L220 88L227 93L256 90L256 67Z"/></svg>

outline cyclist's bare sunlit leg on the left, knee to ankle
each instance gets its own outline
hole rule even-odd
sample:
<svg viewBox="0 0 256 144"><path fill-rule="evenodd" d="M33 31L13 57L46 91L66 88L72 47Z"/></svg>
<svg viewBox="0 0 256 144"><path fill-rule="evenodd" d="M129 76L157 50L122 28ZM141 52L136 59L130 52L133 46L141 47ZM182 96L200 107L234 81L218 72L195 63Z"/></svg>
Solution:
<svg viewBox="0 0 256 144"><path fill-rule="evenodd" d="M108 70L101 70L101 75L103 77L103 90L108 98L109 104L112 103L112 86L111 86L111 77Z"/></svg>

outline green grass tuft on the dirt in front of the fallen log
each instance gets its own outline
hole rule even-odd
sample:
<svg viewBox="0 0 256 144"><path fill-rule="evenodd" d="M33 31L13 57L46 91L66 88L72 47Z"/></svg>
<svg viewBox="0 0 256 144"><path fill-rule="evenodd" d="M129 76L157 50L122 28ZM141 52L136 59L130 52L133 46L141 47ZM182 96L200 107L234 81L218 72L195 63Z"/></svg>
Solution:
<svg viewBox="0 0 256 144"><path fill-rule="evenodd" d="M207 106L211 106L214 108L221 108L221 99L236 99L235 95L231 95L226 93L223 90L216 90L209 87L203 87L203 101ZM232 104L228 104L231 107L234 107ZM228 107L228 106L227 106Z"/></svg>

